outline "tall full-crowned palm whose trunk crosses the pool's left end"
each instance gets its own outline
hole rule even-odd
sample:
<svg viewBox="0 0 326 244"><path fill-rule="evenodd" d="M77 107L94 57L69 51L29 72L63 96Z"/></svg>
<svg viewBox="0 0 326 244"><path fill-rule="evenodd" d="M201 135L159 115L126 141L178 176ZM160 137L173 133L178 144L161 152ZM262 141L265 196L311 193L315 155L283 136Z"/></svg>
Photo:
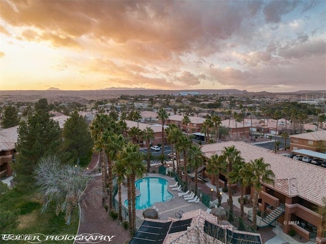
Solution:
<svg viewBox="0 0 326 244"><path fill-rule="evenodd" d="M123 161L126 167L126 176L128 184L128 212L129 212L129 224L130 233L133 235L135 231L135 219L136 219L136 209L135 209L135 199L136 199L136 189L135 189L135 179L143 176L143 171L145 170L143 164L143 154L139 151L139 145L135 145L129 142L123 148L118 159Z"/></svg>

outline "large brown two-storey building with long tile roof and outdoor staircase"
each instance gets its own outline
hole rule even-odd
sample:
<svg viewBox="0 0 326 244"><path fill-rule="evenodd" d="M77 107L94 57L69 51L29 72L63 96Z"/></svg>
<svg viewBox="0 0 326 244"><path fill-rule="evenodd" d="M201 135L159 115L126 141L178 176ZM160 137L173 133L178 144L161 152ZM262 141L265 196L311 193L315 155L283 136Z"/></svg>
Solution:
<svg viewBox="0 0 326 244"><path fill-rule="evenodd" d="M230 146L235 146L241 152L244 161L249 162L262 157L270 165L275 174L275 184L262 182L263 188L259 193L259 210L273 211L280 208L281 215L277 216L279 224L296 221L298 225L283 225L283 232L294 229L304 239L321 237L322 198L326 196L326 168L315 166L307 162L284 157L268 149L244 142L221 142L202 146L204 156L210 158L214 154ZM206 173L207 175L207 173ZM224 186L225 176L219 175L219 182ZM214 181L212 179L212 184ZM239 189L238 185L232 187ZM250 191L253 196L253 189Z"/></svg>

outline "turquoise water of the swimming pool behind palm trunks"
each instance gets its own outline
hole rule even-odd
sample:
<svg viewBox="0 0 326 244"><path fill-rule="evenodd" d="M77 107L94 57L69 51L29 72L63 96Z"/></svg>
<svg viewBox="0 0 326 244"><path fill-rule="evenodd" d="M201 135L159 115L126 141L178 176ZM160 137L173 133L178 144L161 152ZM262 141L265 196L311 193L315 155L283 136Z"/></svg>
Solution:
<svg viewBox="0 0 326 244"><path fill-rule="evenodd" d="M155 202L165 202L173 198L168 192L169 182L157 177L146 177L135 181L140 195L136 197L136 209L149 208ZM124 202L128 206L128 200Z"/></svg>

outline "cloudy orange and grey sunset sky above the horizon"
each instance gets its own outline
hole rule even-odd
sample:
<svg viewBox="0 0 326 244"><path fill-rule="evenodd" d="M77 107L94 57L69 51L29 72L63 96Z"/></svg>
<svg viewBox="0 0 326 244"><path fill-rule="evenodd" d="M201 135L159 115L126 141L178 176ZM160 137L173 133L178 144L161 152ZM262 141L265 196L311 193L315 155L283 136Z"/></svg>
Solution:
<svg viewBox="0 0 326 244"><path fill-rule="evenodd" d="M0 90L324 90L325 26L325 1L0 0Z"/></svg>

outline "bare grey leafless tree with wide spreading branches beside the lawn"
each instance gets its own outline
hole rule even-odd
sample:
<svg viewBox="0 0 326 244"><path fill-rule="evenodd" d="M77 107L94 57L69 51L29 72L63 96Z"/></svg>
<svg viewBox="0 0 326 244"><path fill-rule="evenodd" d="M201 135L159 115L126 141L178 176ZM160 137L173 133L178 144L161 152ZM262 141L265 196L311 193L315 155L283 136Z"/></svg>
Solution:
<svg viewBox="0 0 326 244"><path fill-rule="evenodd" d="M35 172L44 201L42 212L54 202L57 205L56 214L65 212L66 224L70 225L73 210L81 201L79 198L90 177L77 166L61 165L56 156L43 157Z"/></svg>

